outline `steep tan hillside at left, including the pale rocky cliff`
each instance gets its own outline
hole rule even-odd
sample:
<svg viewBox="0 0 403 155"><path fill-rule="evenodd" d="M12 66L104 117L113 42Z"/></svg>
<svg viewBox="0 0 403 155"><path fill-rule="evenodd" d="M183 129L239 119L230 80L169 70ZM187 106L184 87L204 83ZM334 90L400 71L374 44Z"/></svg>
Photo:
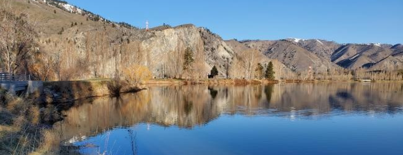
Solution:
<svg viewBox="0 0 403 155"><path fill-rule="evenodd" d="M52 70L60 80L111 77L119 73L119 68L132 64L146 66L157 77L178 77L184 74L182 61L187 50L195 59L192 70L198 74L194 76L207 77L217 66L219 76L225 77L226 65L231 65L234 54L220 36L191 24L145 31L105 20L62 1L0 2L37 23L38 54L44 58L40 63L59 61L61 66Z"/></svg>

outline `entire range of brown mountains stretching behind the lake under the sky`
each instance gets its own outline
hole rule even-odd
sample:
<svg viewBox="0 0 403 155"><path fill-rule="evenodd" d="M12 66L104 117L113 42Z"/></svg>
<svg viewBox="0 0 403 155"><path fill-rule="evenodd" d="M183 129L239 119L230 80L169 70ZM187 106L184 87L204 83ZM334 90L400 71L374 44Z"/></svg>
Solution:
<svg viewBox="0 0 403 155"><path fill-rule="evenodd" d="M39 32L40 49L48 55L57 51L64 53L66 70L77 68L76 64L91 62L85 70L77 71L80 78L111 76L117 61L130 64L138 60L142 60L139 63L149 67L154 76L166 76L176 72L174 68L179 65L174 59L181 55L176 52L187 48L193 49L195 57L197 51L203 52L200 65L205 68L199 70L201 75L217 66L222 77L228 76L229 65L237 55L250 50L258 50L263 56L256 61L262 64L277 61L276 65L287 74L306 72L309 67L314 72L326 72L358 68L394 70L403 66L402 44L341 44L324 39L297 38L223 40L209 29L192 24L176 27L164 24L146 31L125 22L106 20L60 0L12 0L10 3L14 10L27 14L37 23L34 28ZM100 35L105 39L100 40ZM96 43L105 44L108 50L97 51L92 48ZM120 52L113 52L118 48Z"/></svg>

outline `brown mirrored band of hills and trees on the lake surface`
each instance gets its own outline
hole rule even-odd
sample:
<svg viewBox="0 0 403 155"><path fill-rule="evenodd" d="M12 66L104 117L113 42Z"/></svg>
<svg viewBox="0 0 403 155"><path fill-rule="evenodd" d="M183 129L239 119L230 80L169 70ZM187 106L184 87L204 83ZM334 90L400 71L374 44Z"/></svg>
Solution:
<svg viewBox="0 0 403 155"><path fill-rule="evenodd" d="M203 126L220 115L313 119L344 114L402 112L402 83L285 83L276 85L152 86L120 97L78 101L55 124L71 143L137 123ZM147 128L150 127L147 124ZM133 134L133 133L132 133ZM72 138L73 137L73 138Z"/></svg>

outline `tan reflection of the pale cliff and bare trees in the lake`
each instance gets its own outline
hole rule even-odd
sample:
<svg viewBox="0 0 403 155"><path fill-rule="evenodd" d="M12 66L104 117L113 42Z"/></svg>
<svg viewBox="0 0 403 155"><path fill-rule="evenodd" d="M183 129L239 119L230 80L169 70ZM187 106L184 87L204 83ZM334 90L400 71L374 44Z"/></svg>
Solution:
<svg viewBox="0 0 403 155"><path fill-rule="evenodd" d="M151 122L190 128L216 118L221 108L212 104L207 86L151 87L117 98L99 97L79 101L55 124L62 138L95 135L115 126ZM82 103L83 102L83 103Z"/></svg>

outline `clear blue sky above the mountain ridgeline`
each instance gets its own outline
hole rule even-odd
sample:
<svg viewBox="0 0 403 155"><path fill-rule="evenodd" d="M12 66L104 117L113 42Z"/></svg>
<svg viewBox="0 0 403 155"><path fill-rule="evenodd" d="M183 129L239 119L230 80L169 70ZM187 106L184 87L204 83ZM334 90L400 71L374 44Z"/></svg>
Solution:
<svg viewBox="0 0 403 155"><path fill-rule="evenodd" d="M193 23L223 39L403 43L403 0L67 0L111 21Z"/></svg>

